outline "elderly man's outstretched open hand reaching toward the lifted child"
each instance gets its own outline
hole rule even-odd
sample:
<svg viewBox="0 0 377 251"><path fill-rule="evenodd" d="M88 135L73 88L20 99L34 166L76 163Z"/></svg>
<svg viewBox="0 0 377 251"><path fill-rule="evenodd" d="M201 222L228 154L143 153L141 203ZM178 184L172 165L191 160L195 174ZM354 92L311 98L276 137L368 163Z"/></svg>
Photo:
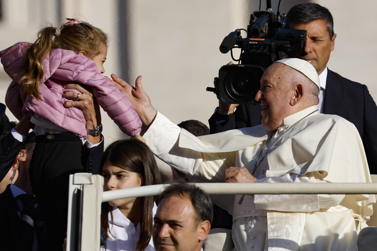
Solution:
<svg viewBox="0 0 377 251"><path fill-rule="evenodd" d="M111 74L111 77L113 79L108 78L109 81L129 99L143 124L146 126L151 125L157 111L152 107L151 99L143 89L141 76L136 78L135 88L115 74Z"/></svg>

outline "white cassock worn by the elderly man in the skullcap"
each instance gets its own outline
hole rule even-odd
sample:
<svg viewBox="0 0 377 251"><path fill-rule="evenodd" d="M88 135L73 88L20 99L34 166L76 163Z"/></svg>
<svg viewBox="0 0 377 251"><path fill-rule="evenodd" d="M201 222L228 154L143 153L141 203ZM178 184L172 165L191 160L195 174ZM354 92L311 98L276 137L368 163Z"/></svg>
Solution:
<svg viewBox="0 0 377 251"><path fill-rule="evenodd" d="M356 127L316 109L284 118L274 132L259 125L201 137L157 113L143 138L160 159L196 182L222 182L231 166L252 173L267 151L256 182L371 182ZM220 197L216 204L233 215L238 251L356 251L357 233L376 202L374 195L254 195L239 205L241 195Z"/></svg>

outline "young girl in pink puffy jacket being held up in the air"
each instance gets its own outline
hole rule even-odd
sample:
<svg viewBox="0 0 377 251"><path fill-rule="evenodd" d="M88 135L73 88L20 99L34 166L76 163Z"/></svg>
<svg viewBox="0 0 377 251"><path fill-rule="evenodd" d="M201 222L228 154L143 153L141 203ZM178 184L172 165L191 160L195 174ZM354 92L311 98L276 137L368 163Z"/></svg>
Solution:
<svg viewBox="0 0 377 251"><path fill-rule="evenodd" d="M101 73L107 54L107 36L86 22L66 18L60 29L46 27L35 43L17 43L0 52L5 72L13 79L5 97L20 120L31 116L37 134L30 179L45 218L49 250L61 249L67 226L69 175L85 172L83 142L100 135L101 124L86 128L79 108L64 107L69 83L93 91L96 101L116 125L130 136L141 131L141 121L129 100ZM27 96L20 95L26 90ZM76 100L80 100L77 93ZM54 241L56 240L56 241Z"/></svg>

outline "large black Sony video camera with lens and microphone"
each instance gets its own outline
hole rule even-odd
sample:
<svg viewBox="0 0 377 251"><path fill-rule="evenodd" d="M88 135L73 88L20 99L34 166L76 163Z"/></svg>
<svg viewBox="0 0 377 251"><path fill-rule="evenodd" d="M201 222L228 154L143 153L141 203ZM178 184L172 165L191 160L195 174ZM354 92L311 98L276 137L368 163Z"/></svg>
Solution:
<svg viewBox="0 0 377 251"><path fill-rule="evenodd" d="M207 87L223 103L256 103L254 97L264 70L279 59L298 54L305 46L306 31L285 29L285 16L269 11L253 12L246 32L243 38L241 29L235 30L220 45L221 53L231 51L232 59L241 63L221 67L215 87ZM237 60L233 48L241 49Z"/></svg>

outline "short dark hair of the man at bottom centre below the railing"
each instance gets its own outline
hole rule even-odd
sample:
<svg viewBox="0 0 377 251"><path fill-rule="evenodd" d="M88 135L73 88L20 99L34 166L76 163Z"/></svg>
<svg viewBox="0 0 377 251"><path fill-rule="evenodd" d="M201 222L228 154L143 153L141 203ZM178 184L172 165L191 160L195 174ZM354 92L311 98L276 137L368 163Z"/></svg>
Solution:
<svg viewBox="0 0 377 251"><path fill-rule="evenodd" d="M212 224L213 206L211 199L206 192L192 183L173 183L168 186L160 195L159 201L163 198L178 196L191 200L192 206L196 211L197 223L208 220Z"/></svg>

